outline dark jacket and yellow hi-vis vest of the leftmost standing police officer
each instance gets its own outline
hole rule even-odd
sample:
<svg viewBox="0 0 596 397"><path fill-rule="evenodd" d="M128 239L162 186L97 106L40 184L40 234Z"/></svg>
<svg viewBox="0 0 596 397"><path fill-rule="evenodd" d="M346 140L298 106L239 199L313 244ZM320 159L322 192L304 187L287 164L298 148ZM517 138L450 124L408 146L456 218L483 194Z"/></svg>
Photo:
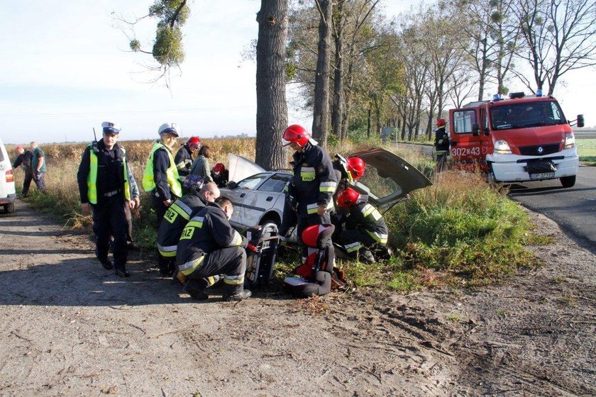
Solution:
<svg viewBox="0 0 596 397"><path fill-rule="evenodd" d="M98 198L114 194L130 200L129 176L123 147L116 143L113 150L106 150L103 139L92 143L85 147L77 173L81 203L96 204Z"/></svg>

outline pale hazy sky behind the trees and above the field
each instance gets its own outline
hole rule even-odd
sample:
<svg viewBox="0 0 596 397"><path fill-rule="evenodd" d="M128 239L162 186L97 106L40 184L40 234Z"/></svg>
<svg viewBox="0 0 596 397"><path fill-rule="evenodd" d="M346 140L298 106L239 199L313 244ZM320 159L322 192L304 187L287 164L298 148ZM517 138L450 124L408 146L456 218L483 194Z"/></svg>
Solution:
<svg viewBox="0 0 596 397"><path fill-rule="evenodd" d="M253 61L242 53L257 38L260 0L194 0L184 26L186 57L172 71L171 89L150 84L150 55L133 54L113 12L128 20L147 13L153 0L31 0L3 6L0 43L0 137L5 143L79 142L99 135L101 122L122 125L121 140L158 137L162 123L177 122L182 136L255 135ZM381 0L388 16L419 1ZM155 21L136 26L150 48ZM556 96L567 118L590 116L596 70L575 72ZM180 74L180 75L179 75ZM522 87L523 90L523 87ZM512 91L519 91L512 89ZM289 92L291 97L294 93ZM311 125L289 105L289 123Z"/></svg>

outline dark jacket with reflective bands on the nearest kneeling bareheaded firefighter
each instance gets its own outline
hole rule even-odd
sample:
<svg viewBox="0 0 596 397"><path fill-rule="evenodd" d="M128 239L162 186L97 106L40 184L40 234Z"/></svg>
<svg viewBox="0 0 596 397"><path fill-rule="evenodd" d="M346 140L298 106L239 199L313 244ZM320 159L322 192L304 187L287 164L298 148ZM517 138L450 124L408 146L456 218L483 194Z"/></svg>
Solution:
<svg viewBox="0 0 596 397"><path fill-rule="evenodd" d="M208 203L190 218L178 242L176 262L188 276L201 266L204 256L226 247L246 247L248 241L232 228L226 213L216 203Z"/></svg>

